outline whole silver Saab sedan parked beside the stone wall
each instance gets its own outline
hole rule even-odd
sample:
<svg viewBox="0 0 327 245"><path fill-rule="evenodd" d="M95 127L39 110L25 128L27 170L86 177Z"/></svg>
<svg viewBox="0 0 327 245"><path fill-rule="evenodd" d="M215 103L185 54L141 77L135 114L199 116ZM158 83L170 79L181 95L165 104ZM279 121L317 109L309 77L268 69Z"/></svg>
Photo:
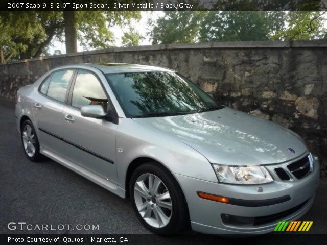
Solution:
<svg viewBox="0 0 327 245"><path fill-rule="evenodd" d="M17 128L43 156L122 198L145 227L262 234L311 207L319 163L294 132L220 105L176 71L82 64L22 87Z"/></svg>

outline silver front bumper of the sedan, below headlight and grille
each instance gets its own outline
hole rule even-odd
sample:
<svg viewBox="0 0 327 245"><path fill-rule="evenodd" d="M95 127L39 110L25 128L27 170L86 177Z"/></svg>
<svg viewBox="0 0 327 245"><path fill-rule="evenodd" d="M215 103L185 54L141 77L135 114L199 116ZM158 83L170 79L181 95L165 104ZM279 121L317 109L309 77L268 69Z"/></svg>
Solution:
<svg viewBox="0 0 327 245"><path fill-rule="evenodd" d="M300 156L299 158L303 157ZM296 160L296 159L295 159ZM289 164L284 163L285 165ZM264 234L274 230L280 220L298 220L312 206L314 195L319 184L319 162L314 162L313 171L303 179L282 181L274 173L273 168L283 166L275 164L266 166L274 182L261 185L230 185L203 181L191 177L175 174L188 203L191 225L194 231L208 234ZM257 188L262 187L263 192ZM222 197L242 200L269 200L286 195L290 200L274 205L249 207L209 201L198 197L197 191L216 194ZM304 203L304 204L303 204ZM276 217L267 223L253 226L233 226L224 224L221 214L236 215L242 217L262 217L275 215L303 204L293 212L284 216Z"/></svg>

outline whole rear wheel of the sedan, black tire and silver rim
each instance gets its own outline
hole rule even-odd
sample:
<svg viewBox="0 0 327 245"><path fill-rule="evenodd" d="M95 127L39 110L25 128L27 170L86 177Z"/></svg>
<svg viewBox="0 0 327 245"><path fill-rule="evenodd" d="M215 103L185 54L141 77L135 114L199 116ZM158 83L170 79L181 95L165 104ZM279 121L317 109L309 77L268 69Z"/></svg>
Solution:
<svg viewBox="0 0 327 245"><path fill-rule="evenodd" d="M40 161L43 156L40 153L40 144L30 120L25 120L22 123L20 137L27 158L32 162Z"/></svg>

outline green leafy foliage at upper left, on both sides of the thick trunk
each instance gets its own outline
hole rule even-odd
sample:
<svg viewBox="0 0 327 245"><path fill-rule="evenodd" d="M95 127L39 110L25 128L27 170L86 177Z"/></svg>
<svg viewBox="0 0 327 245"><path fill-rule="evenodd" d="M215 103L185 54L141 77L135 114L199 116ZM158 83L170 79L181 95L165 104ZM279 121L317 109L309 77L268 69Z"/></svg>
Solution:
<svg viewBox="0 0 327 245"><path fill-rule="evenodd" d="M139 12L75 12L76 36L86 50L110 47L114 40L110 27L113 24L126 26L132 19L139 18ZM0 24L3 33L0 38L3 57L38 57L55 38L63 41L64 37L65 22L63 12L60 11L2 12Z"/></svg>

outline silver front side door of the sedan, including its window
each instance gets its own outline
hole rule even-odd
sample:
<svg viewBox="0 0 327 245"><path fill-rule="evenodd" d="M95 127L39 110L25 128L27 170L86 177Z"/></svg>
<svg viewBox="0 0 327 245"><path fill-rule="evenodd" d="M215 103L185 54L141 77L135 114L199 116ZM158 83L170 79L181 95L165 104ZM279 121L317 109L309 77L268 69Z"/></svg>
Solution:
<svg viewBox="0 0 327 245"><path fill-rule="evenodd" d="M117 182L117 124L105 119L83 117L81 107L101 105L112 110L109 97L96 74L79 69L72 83L68 106L63 111L65 157L96 175ZM69 106L70 105L70 106Z"/></svg>

